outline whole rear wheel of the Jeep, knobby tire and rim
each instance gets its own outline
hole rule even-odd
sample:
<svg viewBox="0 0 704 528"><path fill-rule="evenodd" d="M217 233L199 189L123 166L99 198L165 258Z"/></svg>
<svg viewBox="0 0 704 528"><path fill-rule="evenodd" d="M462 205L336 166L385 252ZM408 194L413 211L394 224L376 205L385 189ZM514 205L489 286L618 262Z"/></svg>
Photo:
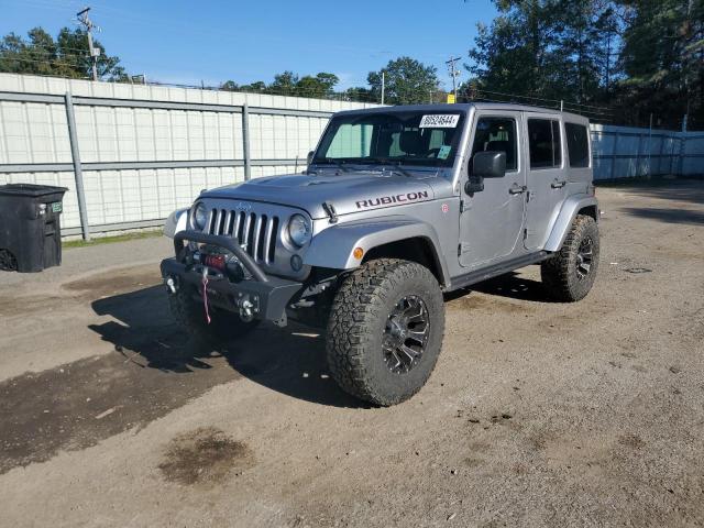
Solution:
<svg viewBox="0 0 704 528"><path fill-rule="evenodd" d="M574 302L590 293L598 270L598 227L592 217L578 215L562 249L540 266L542 284L550 295Z"/></svg>

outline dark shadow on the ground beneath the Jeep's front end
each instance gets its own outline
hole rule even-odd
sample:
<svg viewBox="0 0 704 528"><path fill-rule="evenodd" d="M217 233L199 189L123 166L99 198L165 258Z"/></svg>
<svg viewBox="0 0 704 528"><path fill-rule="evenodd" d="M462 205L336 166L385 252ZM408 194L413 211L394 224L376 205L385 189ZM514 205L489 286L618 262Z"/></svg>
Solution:
<svg viewBox="0 0 704 528"><path fill-rule="evenodd" d="M327 370L324 340L305 327L261 324L246 337L215 346L190 338L175 323L163 286L98 299L91 307L111 320L89 328L138 367L173 374L228 367L295 398L367 407L338 387Z"/></svg>

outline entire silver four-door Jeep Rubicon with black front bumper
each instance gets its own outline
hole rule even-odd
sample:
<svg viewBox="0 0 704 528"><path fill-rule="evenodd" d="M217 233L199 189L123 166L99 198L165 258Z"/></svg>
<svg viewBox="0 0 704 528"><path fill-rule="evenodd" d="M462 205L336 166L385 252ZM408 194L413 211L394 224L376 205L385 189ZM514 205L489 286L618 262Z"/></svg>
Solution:
<svg viewBox="0 0 704 528"><path fill-rule="evenodd" d="M327 332L346 392L394 405L432 372L443 293L529 264L582 299L598 266L588 122L473 103L337 113L302 174L204 191L169 218L170 308L229 339L288 318Z"/></svg>

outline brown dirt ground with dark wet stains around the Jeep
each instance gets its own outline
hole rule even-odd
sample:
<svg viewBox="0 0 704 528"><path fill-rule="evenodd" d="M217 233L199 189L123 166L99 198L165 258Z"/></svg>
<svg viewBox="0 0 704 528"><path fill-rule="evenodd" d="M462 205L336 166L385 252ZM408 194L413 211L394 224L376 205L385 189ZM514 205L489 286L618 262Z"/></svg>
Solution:
<svg viewBox="0 0 704 528"><path fill-rule="evenodd" d="M393 408L302 327L190 342L165 239L0 275L0 526L703 526L704 182L597 196L592 294L534 266L453 295Z"/></svg>

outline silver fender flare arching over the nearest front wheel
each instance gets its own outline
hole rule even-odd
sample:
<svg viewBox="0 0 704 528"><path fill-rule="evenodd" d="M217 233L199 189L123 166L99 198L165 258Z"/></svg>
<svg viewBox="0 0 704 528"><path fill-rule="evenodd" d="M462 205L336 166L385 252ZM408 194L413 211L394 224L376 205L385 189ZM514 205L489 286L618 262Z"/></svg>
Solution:
<svg viewBox="0 0 704 528"><path fill-rule="evenodd" d="M304 256L304 264L353 270L362 262L352 254L355 248L362 248L366 254L370 250L391 242L418 238L429 243L441 274L440 282L447 284L447 263L435 228L427 222L400 215L355 220L323 230L314 237Z"/></svg>

